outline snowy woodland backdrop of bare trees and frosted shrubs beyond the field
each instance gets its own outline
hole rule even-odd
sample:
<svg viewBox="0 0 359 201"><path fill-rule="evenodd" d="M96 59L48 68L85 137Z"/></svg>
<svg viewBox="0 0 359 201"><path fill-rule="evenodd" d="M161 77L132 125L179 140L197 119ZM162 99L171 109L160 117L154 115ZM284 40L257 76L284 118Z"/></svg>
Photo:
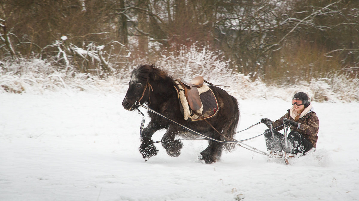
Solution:
<svg viewBox="0 0 359 201"><path fill-rule="evenodd" d="M157 63L245 93L359 100L357 0L0 0L0 26L4 92L126 84Z"/></svg>

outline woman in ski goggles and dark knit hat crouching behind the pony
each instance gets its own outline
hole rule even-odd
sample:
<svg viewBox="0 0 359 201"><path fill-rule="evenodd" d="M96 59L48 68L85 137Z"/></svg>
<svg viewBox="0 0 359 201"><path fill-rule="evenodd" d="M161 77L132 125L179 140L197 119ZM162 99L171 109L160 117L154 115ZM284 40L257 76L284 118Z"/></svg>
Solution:
<svg viewBox="0 0 359 201"><path fill-rule="evenodd" d="M282 151L305 155L311 149L314 151L317 145L319 119L313 112L308 95L304 92L296 93L292 99L292 105L292 108L288 109L288 113L275 122L267 118L261 119L262 123L266 124L268 128L275 128L282 124L290 126L291 132L288 134L287 144L285 140L281 141L283 134L278 132L284 126L273 131L275 139L272 137L272 132L264 134L267 149L274 155Z"/></svg>

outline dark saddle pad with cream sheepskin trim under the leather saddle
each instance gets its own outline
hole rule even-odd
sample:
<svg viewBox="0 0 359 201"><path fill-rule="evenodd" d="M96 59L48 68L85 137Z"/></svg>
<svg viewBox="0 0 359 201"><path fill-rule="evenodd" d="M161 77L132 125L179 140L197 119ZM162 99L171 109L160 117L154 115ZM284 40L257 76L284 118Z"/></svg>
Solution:
<svg viewBox="0 0 359 201"><path fill-rule="evenodd" d="M174 88L177 91L181 112L185 120L190 119L191 121L201 121L204 118L211 118L217 114L219 108L218 102L213 91L208 87L208 85L202 85L197 88L202 106L198 110L192 110L188 104L188 98L185 95L186 85L177 80L175 83L176 85Z"/></svg>

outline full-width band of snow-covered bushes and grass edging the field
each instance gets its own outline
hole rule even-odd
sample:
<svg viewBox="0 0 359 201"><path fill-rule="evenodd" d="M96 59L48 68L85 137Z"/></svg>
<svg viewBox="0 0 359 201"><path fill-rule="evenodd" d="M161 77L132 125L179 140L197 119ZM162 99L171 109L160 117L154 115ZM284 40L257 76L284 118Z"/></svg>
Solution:
<svg viewBox="0 0 359 201"><path fill-rule="evenodd" d="M359 79L346 75L331 75L327 78L312 78L310 82L298 81L293 85L269 85L260 79L254 82L244 74L233 72L228 68L229 60L220 52L195 45L181 47L178 52L162 52L154 57L155 62L136 58L132 65L117 69L117 73L99 77L89 73L59 68L52 60L37 58L0 62L0 93L43 93L62 89L77 91L115 91L124 93L130 79L131 70L140 64L157 63L175 78L191 80L202 75L205 80L221 87L234 97L241 99L279 98L290 100L293 94L306 92L311 101L359 101ZM64 64L65 65L65 64Z"/></svg>

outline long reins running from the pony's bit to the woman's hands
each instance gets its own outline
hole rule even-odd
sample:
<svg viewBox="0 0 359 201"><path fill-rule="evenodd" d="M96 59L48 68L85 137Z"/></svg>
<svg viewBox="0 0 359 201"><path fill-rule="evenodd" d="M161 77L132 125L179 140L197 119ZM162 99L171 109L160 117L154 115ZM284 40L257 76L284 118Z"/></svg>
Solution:
<svg viewBox="0 0 359 201"><path fill-rule="evenodd" d="M191 129L191 128L188 128L188 127L186 127L186 126L183 126L182 124L177 123L177 122L173 121L172 119L169 119L169 118L165 117L164 115L162 115L162 114L160 114L160 113L154 111L153 109L151 109L151 108L149 108L149 107L147 107L147 106L144 106L144 105L141 104L139 101L136 101L136 102L135 102L135 105L136 105L136 106L141 106L141 107L147 109L148 111L150 111L150 112L152 112L152 113L154 113L154 114L157 114L158 116L161 116L161 117L163 117L163 118L165 118L165 119L167 119L167 120L169 120L169 121L171 121L171 122L177 124L178 126L181 126L181 127L185 128L185 129L187 129L188 131L192 131L192 132L194 132L194 133L196 133L196 134L198 134L198 135L200 135L200 136L202 136L202 137L205 137L205 138L207 138L207 139L210 139L210 140L213 140L213 141L216 141L216 142L221 142L221 143L239 143L239 142L248 141L248 140L257 138L257 137L259 137L259 136L261 136L261 135L264 135L264 134L266 134L266 133L272 132L273 130L275 130L275 129L279 128L279 127L282 127L282 126L285 126L285 125L286 125L286 124L282 124L282 125L280 125L280 126L277 126L277 127L273 128L273 129L271 129L270 131L264 132L264 133L262 133L262 134L259 134L259 135L255 136L255 137L251 137L251 138L248 138L248 139L242 139L242 140L237 140L237 141L222 141L222 140L218 140L218 139L214 139L214 138L208 137L208 136L206 136L206 135L204 135L204 134L202 134L202 133L199 133L199 132L197 132L197 131L194 131L194 130ZM141 137L142 137L142 129L143 129L143 125L144 125L144 114L143 114L138 108L137 108L137 110L139 111L139 114L142 114L142 115L143 115L142 123L141 123L141 128L140 128L140 135L141 135ZM255 125L250 126L249 128L251 128L251 127L253 127L253 126L256 126L256 125L258 125L258 124L260 124L260 123L261 123L261 122L258 122L258 123L256 123ZM245 130L247 130L247 129L249 129L249 128L246 128L246 129L244 129L243 131L245 131ZM242 131L239 131L239 132L242 132ZM238 133L238 132L237 132L237 133ZM157 142L160 142L160 141L157 141ZM238 144L238 145L239 145L239 144ZM239 145L239 146L241 146L241 145Z"/></svg>

